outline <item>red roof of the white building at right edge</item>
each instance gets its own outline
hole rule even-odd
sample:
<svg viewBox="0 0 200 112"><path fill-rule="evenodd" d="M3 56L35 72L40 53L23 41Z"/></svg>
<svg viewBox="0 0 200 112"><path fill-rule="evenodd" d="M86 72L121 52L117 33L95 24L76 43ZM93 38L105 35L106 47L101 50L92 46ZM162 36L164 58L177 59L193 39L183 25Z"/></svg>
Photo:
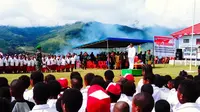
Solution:
<svg viewBox="0 0 200 112"><path fill-rule="evenodd" d="M183 30L177 31L175 33L172 33L171 36L175 38L180 38L182 36L189 36L192 34L192 26L185 28ZM200 34L200 23L194 25L194 34L199 35Z"/></svg>

